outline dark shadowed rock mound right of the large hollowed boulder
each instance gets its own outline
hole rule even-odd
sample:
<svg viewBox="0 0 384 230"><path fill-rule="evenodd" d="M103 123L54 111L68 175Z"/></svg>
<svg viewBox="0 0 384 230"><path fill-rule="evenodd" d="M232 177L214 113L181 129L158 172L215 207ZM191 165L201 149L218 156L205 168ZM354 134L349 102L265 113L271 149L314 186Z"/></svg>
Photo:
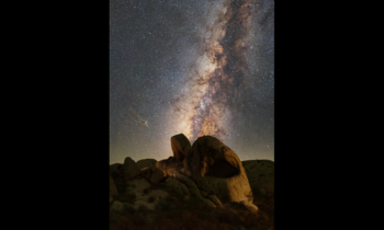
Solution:
<svg viewBox="0 0 384 230"><path fill-rule="evenodd" d="M253 194L274 192L274 162L270 160L242 161Z"/></svg>

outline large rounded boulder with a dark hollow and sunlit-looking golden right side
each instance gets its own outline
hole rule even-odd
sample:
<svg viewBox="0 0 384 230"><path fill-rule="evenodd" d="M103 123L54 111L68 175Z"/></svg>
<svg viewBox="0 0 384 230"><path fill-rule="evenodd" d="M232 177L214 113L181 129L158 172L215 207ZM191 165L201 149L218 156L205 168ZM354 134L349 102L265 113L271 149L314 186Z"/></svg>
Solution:
<svg viewBox="0 0 384 230"><path fill-rule="evenodd" d="M253 202L246 171L230 148L203 136L193 143L192 154L192 176L200 189L215 194L222 202Z"/></svg>

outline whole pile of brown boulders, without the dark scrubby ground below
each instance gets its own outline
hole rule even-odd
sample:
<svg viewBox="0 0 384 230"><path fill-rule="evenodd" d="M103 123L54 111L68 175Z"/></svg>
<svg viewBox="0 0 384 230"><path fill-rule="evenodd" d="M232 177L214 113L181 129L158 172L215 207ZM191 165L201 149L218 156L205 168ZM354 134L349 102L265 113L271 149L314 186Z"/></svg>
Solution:
<svg viewBox="0 0 384 230"><path fill-rule="evenodd" d="M271 171L268 171L271 168L270 163L264 162L266 166L255 166L256 161L245 161L244 166L229 147L211 136L200 137L191 146L188 138L179 134L171 137L170 142L173 156L168 159L144 159L135 162L127 157L124 164L110 165L111 197L117 192L122 196L135 197L129 204L123 202L124 207L135 209L143 205L154 209L160 197L165 198L171 193L184 200L195 197L211 207L236 202L251 211L258 210L252 204L251 186L258 191L268 187L270 182L261 179L267 179L268 173L272 175ZM268 170L255 177L256 169ZM252 180L251 185L248 176ZM116 189L114 182L118 180L124 181L120 186L124 185L125 189ZM121 210L122 207L116 203L111 209Z"/></svg>

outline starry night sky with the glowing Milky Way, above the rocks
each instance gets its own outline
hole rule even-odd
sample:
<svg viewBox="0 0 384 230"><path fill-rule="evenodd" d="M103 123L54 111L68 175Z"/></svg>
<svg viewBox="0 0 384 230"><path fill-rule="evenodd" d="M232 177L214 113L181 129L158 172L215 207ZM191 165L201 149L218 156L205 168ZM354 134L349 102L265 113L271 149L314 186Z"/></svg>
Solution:
<svg viewBox="0 0 384 230"><path fill-rule="evenodd" d="M181 133L274 160L273 0L110 0L110 163Z"/></svg>

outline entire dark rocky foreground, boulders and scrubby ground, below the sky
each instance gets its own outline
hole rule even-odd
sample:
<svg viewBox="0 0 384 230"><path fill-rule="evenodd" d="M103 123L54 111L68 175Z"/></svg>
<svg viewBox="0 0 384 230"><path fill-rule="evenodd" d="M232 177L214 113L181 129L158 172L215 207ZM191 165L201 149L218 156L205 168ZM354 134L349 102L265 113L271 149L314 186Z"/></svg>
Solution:
<svg viewBox="0 0 384 230"><path fill-rule="evenodd" d="M191 146L184 135L176 135L171 137L171 149L173 156L165 160L144 159L135 162L127 157L124 163L110 165L110 214L115 223L123 220L116 220L113 215L123 215L124 219L124 211L126 216L137 215L136 212L143 210L147 212L145 217L140 214L142 220L154 223L156 218L159 218L156 212L176 210L178 204L178 208L181 209L174 215L182 212L183 217L185 211L188 214L188 207L197 207L195 205L200 205L203 209L205 207L204 211L211 210L205 217L217 212L212 218L218 218L223 216L219 211L226 210L226 215L230 214L230 218L223 220L225 222L231 219L231 222L222 229L253 229L252 226L256 225L253 219L258 215L259 217L263 215L264 220L269 220L268 225L263 225L264 228L273 229L273 223L271 226L270 218L266 215L273 211L274 208L271 207L273 203L268 205L260 203L263 205L262 208L269 209L261 214L257 203L267 196L271 199L271 194L274 193L273 161L240 161L230 148L211 136L200 137ZM237 210L234 209L235 206ZM242 216L247 216L249 220L239 216L241 211L245 211ZM137 223L137 219L140 218L132 219L136 221L134 226L143 227ZM193 219L193 215L189 219ZM219 218L217 220L219 221ZM188 220L184 219L183 222ZM127 228L126 225L124 227L111 223L111 228ZM174 229L180 229L180 225L183 229L189 229L184 223L174 226L173 221L172 225ZM172 229L172 225L167 228ZM210 225L210 221L204 225ZM131 229L134 226L131 226ZM154 226L148 228L156 229ZM161 228L158 226L157 229Z"/></svg>

